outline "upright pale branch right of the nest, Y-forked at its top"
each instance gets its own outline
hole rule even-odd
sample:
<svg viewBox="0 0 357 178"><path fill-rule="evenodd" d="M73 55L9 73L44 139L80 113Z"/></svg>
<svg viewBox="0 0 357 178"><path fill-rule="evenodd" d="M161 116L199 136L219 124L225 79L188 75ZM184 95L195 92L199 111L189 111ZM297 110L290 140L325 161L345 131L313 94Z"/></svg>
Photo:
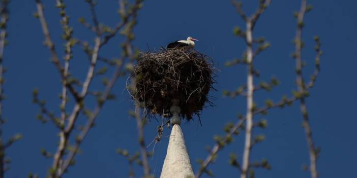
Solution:
<svg viewBox="0 0 357 178"><path fill-rule="evenodd" d="M235 33L238 33L238 34L240 34L241 37L245 38L245 41L247 44L247 50L245 53L246 60L242 61L244 64L247 64L247 85L244 87L241 87L239 90L237 90L238 94L243 94L244 96L247 97L247 114L245 117L245 121L247 123L246 123L246 127L245 127L246 134L245 134L245 146L244 146L244 153L243 153L243 164L242 164L242 167L240 168L241 178L247 177L247 173L248 173L248 169L249 169L249 165L250 165L250 152L251 152L251 148L253 146L252 129L254 127L253 115L254 115L254 110L255 110L253 94L254 94L255 90L264 88L264 86L260 86L260 88L254 87L254 75L256 75L256 71L253 66L253 59L254 59L255 55L257 55L259 52L264 50L266 47L261 47L258 50L256 50L256 52L254 52L254 49L253 49L254 39L253 39L252 33L253 33L253 29L254 29L256 21L258 20L260 15L264 12L264 10L270 5L270 2L271 2L270 0L260 1L260 6L259 6L258 10L251 17L248 18L242 9L242 3L236 2L234 0L231 1L233 6L235 6L235 8L237 10L237 13L239 13L239 15L242 17L242 19L246 22L246 31L245 32L241 32L240 28L237 28L235 30ZM244 34L244 35L242 35L242 34ZM240 61L237 60L237 63L240 63ZM245 89L247 90L247 92L244 92ZM236 128L238 128L239 125L241 125L241 124L243 124L243 121L239 121L233 127L234 128L233 132L235 132ZM230 132L230 133L233 133L233 132ZM196 177L199 177L203 171L206 171L205 167L212 161L214 155L218 152L219 147L220 147L219 145L220 144L216 145L213 148L209 157L207 157L206 160L202 163L200 170L196 174Z"/></svg>

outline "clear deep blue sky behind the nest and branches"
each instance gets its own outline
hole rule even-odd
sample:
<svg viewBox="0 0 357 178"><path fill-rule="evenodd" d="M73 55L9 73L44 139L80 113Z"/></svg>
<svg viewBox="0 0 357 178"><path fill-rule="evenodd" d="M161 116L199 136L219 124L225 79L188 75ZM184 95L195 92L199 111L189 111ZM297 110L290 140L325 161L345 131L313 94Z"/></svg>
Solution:
<svg viewBox="0 0 357 178"><path fill-rule="evenodd" d="M70 2L70 3L67 3ZM250 13L255 10L258 1L244 1L244 9ZM253 3L254 2L254 3ZM355 175L357 143L355 115L357 84L355 80L357 24L355 17L357 3L354 1L318 0L309 1L314 9L307 15L304 28L303 58L308 62L305 74L313 71L313 35L321 37L324 55L321 59L321 73L311 97L307 99L311 116L313 138L322 152L318 160L320 177L352 177ZM74 36L81 39L93 37L91 32L78 24L80 16L88 17L88 6L84 1L65 1L67 11L74 26ZM50 25L50 32L62 53L61 27L58 10L54 1L45 1L45 15ZM99 1L99 20L114 26L118 21L117 1ZM266 98L278 100L282 94L290 94L294 86L294 60L292 39L295 33L294 10L300 8L300 1L273 1L256 26L255 37L264 36L271 48L255 60L261 73L260 80L268 80L275 75L281 85L272 92L258 92L257 103L263 104ZM58 111L58 94L61 91L57 70L49 62L49 52L42 45L43 35L40 23L32 14L36 11L34 1L12 1L8 24L9 46L5 50L4 64L6 73L4 116L8 123L3 126L7 138L14 133L22 133L23 139L7 152L12 158L11 169L6 177L26 177L28 172L39 173L45 177L52 160L41 156L40 149L54 152L58 138L57 130L51 123L42 124L35 116L39 109L32 104L33 88L40 88L40 96L48 102L49 108ZM226 68L224 62L241 56L245 49L242 39L234 37L232 29L243 25L230 1L146 1L139 13L134 45L146 50L165 46L167 43L185 39L188 36L199 39L196 49L214 58L221 72L217 74L217 92L211 95L217 99L213 108L202 112L202 126L198 120L182 124L188 151L194 170L196 159L204 159L205 146L213 146L215 134L223 134L222 128L227 122L235 122L237 113L244 113L245 99L224 98L223 89L233 90L244 84L246 68L236 66ZM119 39L109 43L100 53L102 56L120 55ZM85 67L84 67L85 66ZM87 59L80 48L76 48L72 65L72 74L84 77ZM100 79L97 80L98 86ZM77 165L69 169L65 177L126 177L128 164L117 155L116 148L128 149L130 153L138 150L136 123L128 116L133 104L124 90L125 79L119 80L114 88L118 99L110 101L98 117L96 127L90 131L76 157ZM260 119L257 116L255 119ZM275 109L265 117L269 127L256 129L255 134L264 133L266 140L255 146L252 161L267 158L272 170L259 170L256 177L309 177L301 169L309 163L302 117L299 105L293 104L284 110ZM84 118L80 118L84 122ZM155 120L145 128L146 143L156 135ZM168 135L166 129L164 135ZM243 135L234 138L234 143L219 153L217 162L210 165L216 177L237 177L239 171L228 165L229 153L236 153L241 160ZM150 165L156 176L160 175L166 155L168 137L156 145L155 155ZM151 146L150 150L153 149ZM138 169L141 174L141 169ZM205 177L204 175L203 177Z"/></svg>

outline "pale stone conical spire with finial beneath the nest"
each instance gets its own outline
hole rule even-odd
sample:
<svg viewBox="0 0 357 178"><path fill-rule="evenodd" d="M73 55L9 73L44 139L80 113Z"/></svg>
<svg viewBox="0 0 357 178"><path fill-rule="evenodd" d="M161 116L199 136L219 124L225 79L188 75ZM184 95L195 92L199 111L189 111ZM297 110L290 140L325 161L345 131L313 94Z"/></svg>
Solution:
<svg viewBox="0 0 357 178"><path fill-rule="evenodd" d="M178 100L173 100L170 112L172 130L169 145L167 147L166 158L162 167L160 178L188 178L194 177L190 157L187 153L184 134L180 127L181 112Z"/></svg>

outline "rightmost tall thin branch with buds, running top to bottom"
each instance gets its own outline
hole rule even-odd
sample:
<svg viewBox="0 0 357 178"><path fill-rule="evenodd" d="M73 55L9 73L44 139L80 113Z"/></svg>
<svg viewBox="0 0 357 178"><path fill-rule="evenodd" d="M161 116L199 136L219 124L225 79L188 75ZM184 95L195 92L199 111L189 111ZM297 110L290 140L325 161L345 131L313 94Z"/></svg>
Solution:
<svg viewBox="0 0 357 178"><path fill-rule="evenodd" d="M309 155L310 155L310 172L311 177L317 177L316 170L316 159L317 152L315 150L315 144L312 138L312 131L309 123L309 115L307 111L306 101L305 101L305 93L307 92L306 85L304 83L303 74L302 74L302 59L301 59L301 51L302 51L302 30L304 26L304 16L306 14L307 8L307 0L302 0L301 9L299 14L297 15L297 29L295 34L295 61L296 61L296 85L297 89L302 96L300 98L300 109L303 115L303 127L305 128L306 140L309 147ZM318 53L319 55L319 53ZM319 58L319 56L318 56ZM318 72L318 67L316 68ZM316 73L317 75L317 73ZM310 86L310 85L308 85Z"/></svg>

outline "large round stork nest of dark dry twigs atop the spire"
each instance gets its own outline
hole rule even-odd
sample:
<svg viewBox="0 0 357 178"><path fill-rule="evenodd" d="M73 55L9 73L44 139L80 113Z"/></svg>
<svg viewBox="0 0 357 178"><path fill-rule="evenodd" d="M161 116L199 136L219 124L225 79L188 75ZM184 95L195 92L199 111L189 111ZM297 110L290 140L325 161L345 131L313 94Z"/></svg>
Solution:
<svg viewBox="0 0 357 178"><path fill-rule="evenodd" d="M209 91L214 89L212 59L195 50L161 49L141 53L131 79L134 99L147 114L168 117L172 99L180 100L181 117L199 117L205 104L212 105Z"/></svg>

